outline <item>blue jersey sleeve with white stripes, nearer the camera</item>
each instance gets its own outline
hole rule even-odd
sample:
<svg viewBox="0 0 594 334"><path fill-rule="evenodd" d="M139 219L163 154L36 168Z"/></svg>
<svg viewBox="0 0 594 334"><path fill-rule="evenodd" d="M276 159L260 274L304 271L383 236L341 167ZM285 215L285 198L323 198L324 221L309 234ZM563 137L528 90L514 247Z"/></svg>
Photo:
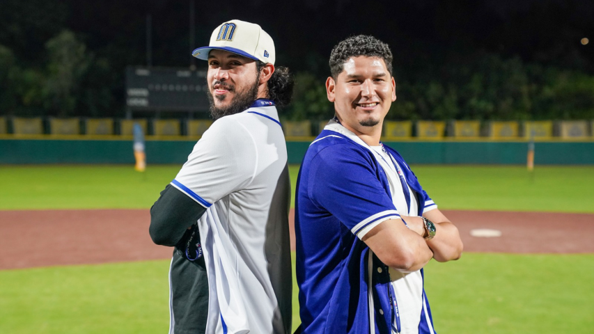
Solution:
<svg viewBox="0 0 594 334"><path fill-rule="evenodd" d="M332 145L311 161L308 196L357 237L369 225L400 218L374 161L349 145Z"/></svg>

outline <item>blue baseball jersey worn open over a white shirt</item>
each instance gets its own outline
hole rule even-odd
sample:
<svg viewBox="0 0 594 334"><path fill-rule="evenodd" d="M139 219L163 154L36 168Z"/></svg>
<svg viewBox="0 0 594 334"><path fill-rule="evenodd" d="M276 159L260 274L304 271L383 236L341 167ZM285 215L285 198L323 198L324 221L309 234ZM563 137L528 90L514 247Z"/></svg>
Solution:
<svg viewBox="0 0 594 334"><path fill-rule="evenodd" d="M435 203L400 154L385 148L403 166L421 216ZM368 225L400 218L375 154L325 129L299 170L295 209L302 333L392 333L398 308L389 268L357 237ZM419 333L433 333L424 291L422 297Z"/></svg>

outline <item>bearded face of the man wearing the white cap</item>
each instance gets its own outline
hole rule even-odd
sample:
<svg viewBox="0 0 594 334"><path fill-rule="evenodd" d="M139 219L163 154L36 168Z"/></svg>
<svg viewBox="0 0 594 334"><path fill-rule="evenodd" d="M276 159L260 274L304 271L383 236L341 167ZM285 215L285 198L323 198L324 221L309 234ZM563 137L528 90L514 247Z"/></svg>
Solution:
<svg viewBox="0 0 594 334"><path fill-rule="evenodd" d="M210 51L206 80L210 113L215 120L244 111L258 97L256 61L238 54Z"/></svg>

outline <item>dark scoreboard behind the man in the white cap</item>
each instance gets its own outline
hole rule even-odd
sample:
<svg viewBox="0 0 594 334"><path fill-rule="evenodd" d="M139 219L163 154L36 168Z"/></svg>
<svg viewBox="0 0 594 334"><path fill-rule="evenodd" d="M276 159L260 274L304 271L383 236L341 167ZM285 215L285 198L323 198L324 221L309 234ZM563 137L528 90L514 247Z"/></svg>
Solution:
<svg viewBox="0 0 594 334"><path fill-rule="evenodd" d="M131 110L208 111L206 70L127 67L126 104Z"/></svg>

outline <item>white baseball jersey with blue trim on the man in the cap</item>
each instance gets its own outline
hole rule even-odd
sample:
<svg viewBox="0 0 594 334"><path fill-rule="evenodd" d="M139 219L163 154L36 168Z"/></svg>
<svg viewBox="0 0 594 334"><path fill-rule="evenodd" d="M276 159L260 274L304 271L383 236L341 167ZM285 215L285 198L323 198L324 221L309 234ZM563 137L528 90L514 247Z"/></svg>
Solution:
<svg viewBox="0 0 594 334"><path fill-rule="evenodd" d="M274 103L215 121L171 184L207 208L198 220L206 333L289 333L290 182Z"/></svg>

